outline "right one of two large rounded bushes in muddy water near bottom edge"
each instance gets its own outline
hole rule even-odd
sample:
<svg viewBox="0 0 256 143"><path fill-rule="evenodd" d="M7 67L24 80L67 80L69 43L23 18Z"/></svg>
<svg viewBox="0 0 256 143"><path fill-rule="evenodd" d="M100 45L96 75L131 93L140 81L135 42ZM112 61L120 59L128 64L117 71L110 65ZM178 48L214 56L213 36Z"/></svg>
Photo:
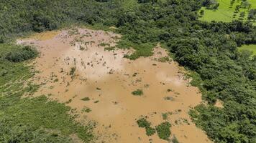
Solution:
<svg viewBox="0 0 256 143"><path fill-rule="evenodd" d="M169 140L170 137L170 123L169 122L163 122L155 129L157 130L157 135L160 137L160 139Z"/></svg>

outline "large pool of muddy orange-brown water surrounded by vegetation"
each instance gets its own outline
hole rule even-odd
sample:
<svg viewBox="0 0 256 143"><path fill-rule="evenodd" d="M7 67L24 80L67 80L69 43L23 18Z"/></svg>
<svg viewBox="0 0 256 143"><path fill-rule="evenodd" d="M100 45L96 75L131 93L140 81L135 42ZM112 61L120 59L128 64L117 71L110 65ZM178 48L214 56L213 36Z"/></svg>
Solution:
<svg viewBox="0 0 256 143"><path fill-rule="evenodd" d="M184 78L184 69L174 61L157 61L168 56L160 46L153 56L134 61L123 58L131 50L104 50L104 44L114 46L119 37L77 28L20 39L19 44L32 44L40 51L35 60L40 72L32 81L42 86L35 96L45 94L66 103L76 109L79 122L95 122L95 142L168 142L157 134L148 137L136 122L142 116L152 127L170 122L171 136L179 142L211 142L188 115L201 103L201 94ZM137 89L142 89L141 96L132 94Z"/></svg>

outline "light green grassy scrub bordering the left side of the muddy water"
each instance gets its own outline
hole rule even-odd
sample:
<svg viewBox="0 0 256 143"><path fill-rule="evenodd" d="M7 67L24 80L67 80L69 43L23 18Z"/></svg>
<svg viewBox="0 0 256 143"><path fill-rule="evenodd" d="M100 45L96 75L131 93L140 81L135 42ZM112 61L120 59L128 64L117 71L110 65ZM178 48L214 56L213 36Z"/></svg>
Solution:
<svg viewBox="0 0 256 143"><path fill-rule="evenodd" d="M21 46L0 44L0 142L72 142L71 134L84 142L91 141L93 126L75 122L68 114L70 107L45 96L21 98L33 94L39 86L24 85L34 74L27 61L5 59L10 51L19 50Z"/></svg>

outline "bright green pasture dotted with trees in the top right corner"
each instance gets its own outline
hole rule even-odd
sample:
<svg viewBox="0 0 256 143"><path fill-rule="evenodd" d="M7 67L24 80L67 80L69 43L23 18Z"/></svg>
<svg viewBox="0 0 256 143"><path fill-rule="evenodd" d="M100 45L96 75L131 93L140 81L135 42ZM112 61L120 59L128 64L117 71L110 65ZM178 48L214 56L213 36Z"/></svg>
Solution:
<svg viewBox="0 0 256 143"><path fill-rule="evenodd" d="M248 8L240 8L237 13L235 13L236 6L240 5L242 1L235 0L234 4L231 6L230 0L217 0L219 2L219 7L216 11L211 9L206 9L202 7L201 10L204 10L204 15L199 19L202 21L224 21L231 22L234 19L240 19L242 21L247 20ZM247 0L251 7L250 9L256 9L256 0ZM241 18L240 14L244 12L244 17ZM200 11L198 13L200 15ZM256 24L256 22L254 22Z"/></svg>

